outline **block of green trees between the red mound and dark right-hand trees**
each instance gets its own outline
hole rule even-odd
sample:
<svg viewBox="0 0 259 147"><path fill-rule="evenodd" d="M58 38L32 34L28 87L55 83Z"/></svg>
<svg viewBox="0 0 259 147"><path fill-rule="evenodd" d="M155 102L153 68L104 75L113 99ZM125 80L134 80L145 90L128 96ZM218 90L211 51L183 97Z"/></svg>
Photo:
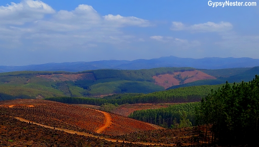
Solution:
<svg viewBox="0 0 259 147"><path fill-rule="evenodd" d="M200 102L181 103L166 108L136 110L128 117L160 125L165 128L195 125L195 109Z"/></svg>

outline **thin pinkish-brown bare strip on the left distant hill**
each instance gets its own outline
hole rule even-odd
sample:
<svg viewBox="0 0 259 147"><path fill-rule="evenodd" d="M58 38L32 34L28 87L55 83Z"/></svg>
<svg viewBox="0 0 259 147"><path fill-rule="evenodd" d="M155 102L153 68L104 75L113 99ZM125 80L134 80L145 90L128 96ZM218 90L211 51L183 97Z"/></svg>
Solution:
<svg viewBox="0 0 259 147"><path fill-rule="evenodd" d="M91 79L95 80L93 73L82 73L82 74L51 74L51 75L38 75L45 79L51 79L54 81L75 81L79 79Z"/></svg>

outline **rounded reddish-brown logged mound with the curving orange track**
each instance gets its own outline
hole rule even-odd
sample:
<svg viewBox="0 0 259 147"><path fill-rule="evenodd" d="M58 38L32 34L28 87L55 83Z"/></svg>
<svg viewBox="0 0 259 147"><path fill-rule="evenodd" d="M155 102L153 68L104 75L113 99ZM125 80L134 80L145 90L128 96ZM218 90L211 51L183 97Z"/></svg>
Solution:
<svg viewBox="0 0 259 147"><path fill-rule="evenodd" d="M157 129L149 123L121 115L41 99L0 101L0 107L8 111L11 116L88 133L120 135Z"/></svg>

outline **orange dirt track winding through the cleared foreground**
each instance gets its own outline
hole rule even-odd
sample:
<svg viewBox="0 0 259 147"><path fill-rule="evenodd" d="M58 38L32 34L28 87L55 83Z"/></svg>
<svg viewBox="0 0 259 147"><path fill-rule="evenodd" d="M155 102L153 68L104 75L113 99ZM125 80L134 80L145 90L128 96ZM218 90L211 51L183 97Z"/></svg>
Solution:
<svg viewBox="0 0 259 147"><path fill-rule="evenodd" d="M102 111L101 111L102 112ZM79 132L79 131L75 131L75 130L71 130L71 129L64 129L64 128L59 128L59 127L52 127L52 126L49 126L49 125L44 125L44 124L40 124L40 123L36 123L36 122L32 122L30 120L26 120L26 119L23 119L21 117L14 117L20 121L24 121L24 122L30 122L30 123L34 123L36 125L39 125L39 126L43 126L43 127L47 127L47 128L51 128L51 129L56 129L56 130L61 130L61 131L65 131L65 132L68 132L68 133L72 133L72 134L78 134L78 135L84 135L84 136L90 136L90 137L95 137L95 138L100 138L100 139L105 139L107 141L111 141L111 142L125 142L125 143L134 143L134 144L144 144L144 145L167 145L167 146L175 146L176 144L164 144L164 143L148 143L148 142L130 142L130 141L124 141L124 140L117 140L117 139L112 139L112 138L106 138L106 137L102 137L102 136L96 136L96 135L92 135L92 134L89 134L89 133L85 133L85 132ZM107 118L106 118L106 122L107 122ZM106 125L106 123L105 123ZM105 126L104 125L104 126ZM100 127L98 130L101 132L103 131L106 126L104 127ZM103 130L102 130L103 129Z"/></svg>

